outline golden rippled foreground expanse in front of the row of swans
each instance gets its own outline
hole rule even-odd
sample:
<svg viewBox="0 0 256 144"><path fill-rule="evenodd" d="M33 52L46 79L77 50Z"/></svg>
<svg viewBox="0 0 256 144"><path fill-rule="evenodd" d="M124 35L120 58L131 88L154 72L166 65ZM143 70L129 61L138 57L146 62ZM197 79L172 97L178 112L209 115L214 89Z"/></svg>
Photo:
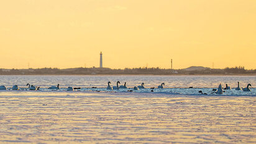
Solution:
<svg viewBox="0 0 256 144"><path fill-rule="evenodd" d="M0 143L256 143L256 97L0 96Z"/></svg>

